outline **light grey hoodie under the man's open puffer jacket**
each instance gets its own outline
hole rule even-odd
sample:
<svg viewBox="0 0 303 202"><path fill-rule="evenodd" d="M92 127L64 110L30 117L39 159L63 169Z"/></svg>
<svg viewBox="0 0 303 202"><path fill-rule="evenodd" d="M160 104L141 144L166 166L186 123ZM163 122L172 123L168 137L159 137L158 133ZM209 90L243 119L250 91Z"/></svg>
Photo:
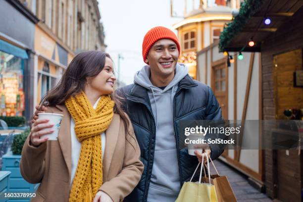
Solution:
<svg viewBox="0 0 303 202"><path fill-rule="evenodd" d="M178 89L178 83L187 74L187 67L178 63L173 80L164 90L152 85L150 66L144 66L135 74L134 83L148 89L156 125L148 202L174 202L181 189L173 126L173 98Z"/></svg>

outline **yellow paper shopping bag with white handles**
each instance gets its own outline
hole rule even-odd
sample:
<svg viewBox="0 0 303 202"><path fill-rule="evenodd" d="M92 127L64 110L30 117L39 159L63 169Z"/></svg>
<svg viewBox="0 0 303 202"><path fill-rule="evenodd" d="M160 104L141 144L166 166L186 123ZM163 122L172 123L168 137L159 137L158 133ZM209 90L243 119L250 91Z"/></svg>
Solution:
<svg viewBox="0 0 303 202"><path fill-rule="evenodd" d="M208 157L206 156L206 158ZM202 162L203 160L204 159L202 157ZM193 177L195 176L199 168L199 165L200 163L198 164L191 180L183 184L176 202L218 202L214 185L212 185L211 183L201 183L202 168L204 164L201 164L199 182L192 182ZM210 182L210 178L208 180Z"/></svg>

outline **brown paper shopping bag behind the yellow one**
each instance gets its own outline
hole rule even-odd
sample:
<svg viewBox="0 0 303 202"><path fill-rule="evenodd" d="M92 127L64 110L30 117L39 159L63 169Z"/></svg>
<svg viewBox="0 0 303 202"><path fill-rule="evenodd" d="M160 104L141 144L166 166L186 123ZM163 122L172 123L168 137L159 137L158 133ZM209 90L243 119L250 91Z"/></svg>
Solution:
<svg viewBox="0 0 303 202"><path fill-rule="evenodd" d="M210 170L208 169L208 177L210 175L210 183L213 184L215 187L215 192L218 202L237 202L236 196L227 180L227 177L219 175L218 170L215 167L209 155L208 157L215 171L217 172L216 175L211 175ZM207 164L209 164L208 158L207 158ZM205 180L206 183L209 183L208 178L202 178L202 180Z"/></svg>

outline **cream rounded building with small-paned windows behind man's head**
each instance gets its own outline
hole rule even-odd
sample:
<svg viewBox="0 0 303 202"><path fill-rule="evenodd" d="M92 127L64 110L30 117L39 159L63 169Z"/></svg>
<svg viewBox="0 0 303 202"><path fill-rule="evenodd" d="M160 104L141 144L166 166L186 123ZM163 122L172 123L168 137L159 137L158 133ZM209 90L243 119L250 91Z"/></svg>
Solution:
<svg viewBox="0 0 303 202"><path fill-rule="evenodd" d="M197 79L197 52L219 40L224 24L232 19L231 11L240 7L240 0L199 0L189 5L185 0L184 19L173 25L181 44L179 62Z"/></svg>

